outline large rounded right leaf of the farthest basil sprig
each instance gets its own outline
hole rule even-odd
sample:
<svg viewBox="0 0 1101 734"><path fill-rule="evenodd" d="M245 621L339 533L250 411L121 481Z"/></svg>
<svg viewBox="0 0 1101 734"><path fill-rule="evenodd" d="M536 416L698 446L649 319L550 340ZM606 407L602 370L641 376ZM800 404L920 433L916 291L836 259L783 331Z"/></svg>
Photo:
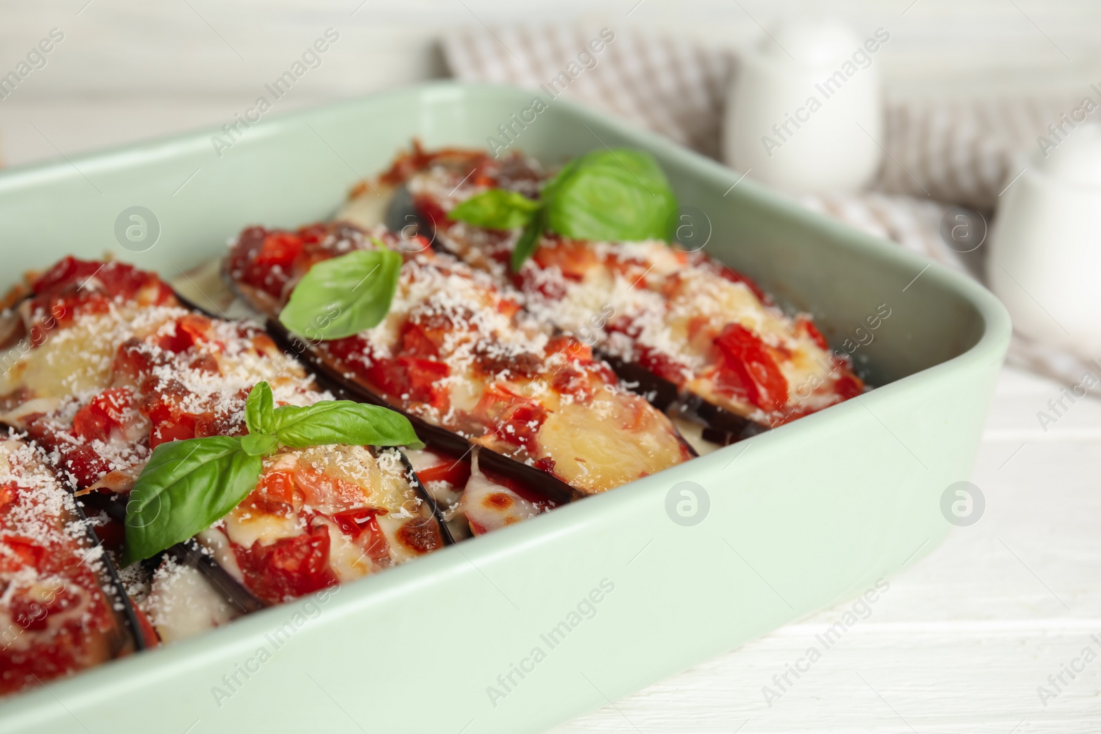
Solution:
<svg viewBox="0 0 1101 734"><path fill-rule="evenodd" d="M677 199L648 153L596 151L543 189L547 229L579 240L664 240Z"/></svg>

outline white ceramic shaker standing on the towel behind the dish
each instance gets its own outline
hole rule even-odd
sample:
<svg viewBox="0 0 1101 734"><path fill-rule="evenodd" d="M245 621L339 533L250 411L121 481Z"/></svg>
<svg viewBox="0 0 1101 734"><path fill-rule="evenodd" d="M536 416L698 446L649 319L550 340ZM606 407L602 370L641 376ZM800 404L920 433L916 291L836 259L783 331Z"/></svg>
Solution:
<svg viewBox="0 0 1101 734"><path fill-rule="evenodd" d="M866 37L838 21L782 24L741 58L727 102L728 165L774 186L853 191L879 169L884 29Z"/></svg>

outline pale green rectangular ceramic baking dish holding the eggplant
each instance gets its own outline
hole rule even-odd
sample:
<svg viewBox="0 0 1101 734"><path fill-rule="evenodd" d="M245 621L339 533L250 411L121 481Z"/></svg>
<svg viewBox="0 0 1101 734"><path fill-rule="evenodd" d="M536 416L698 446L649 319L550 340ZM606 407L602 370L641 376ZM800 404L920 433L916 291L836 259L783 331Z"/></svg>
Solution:
<svg viewBox="0 0 1101 734"><path fill-rule="evenodd" d="M498 127L532 98L430 84L263 120L236 140L211 130L7 171L3 285L105 251L174 277L246 224L330 216L413 136L502 140ZM880 387L321 598L3 700L0 731L543 731L859 593L947 534L940 495L969 476L1010 338L993 296L568 102L513 131L546 163L603 145L652 152L708 222L708 251L813 313L835 347L859 343L857 363ZM135 206L159 224L140 247L116 237Z"/></svg>

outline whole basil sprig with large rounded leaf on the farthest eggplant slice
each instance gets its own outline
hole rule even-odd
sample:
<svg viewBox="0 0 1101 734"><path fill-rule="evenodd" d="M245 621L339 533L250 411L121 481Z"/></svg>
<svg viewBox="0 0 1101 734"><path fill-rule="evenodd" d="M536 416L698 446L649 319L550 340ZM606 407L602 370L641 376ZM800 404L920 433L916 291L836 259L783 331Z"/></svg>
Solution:
<svg viewBox="0 0 1101 734"><path fill-rule="evenodd" d="M608 149L566 164L543 187L539 201L491 188L447 216L489 229L523 227L512 251L512 269L519 271L544 231L578 240L668 240L676 211L676 196L652 155Z"/></svg>

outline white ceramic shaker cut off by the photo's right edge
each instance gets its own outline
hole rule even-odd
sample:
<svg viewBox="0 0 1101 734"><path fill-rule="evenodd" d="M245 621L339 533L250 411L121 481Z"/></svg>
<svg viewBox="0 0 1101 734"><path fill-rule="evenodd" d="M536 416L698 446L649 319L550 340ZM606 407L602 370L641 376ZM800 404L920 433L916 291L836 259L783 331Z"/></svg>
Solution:
<svg viewBox="0 0 1101 734"><path fill-rule="evenodd" d="M1000 197L990 240L986 280L1014 328L1101 358L1101 124L1032 156Z"/></svg>

